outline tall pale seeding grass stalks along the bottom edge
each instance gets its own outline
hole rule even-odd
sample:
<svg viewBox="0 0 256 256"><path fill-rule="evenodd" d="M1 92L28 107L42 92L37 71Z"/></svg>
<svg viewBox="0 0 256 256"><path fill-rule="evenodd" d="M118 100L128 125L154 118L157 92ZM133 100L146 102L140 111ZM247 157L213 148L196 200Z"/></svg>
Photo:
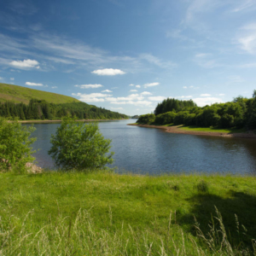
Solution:
<svg viewBox="0 0 256 256"><path fill-rule="evenodd" d="M49 216L49 224L43 227L33 226L32 214L28 212L20 226L14 215L1 219L0 255L256 255L255 240L251 248L231 246L217 208L217 224L211 225L207 235L195 222L196 237L184 234L172 212L163 235L132 229L125 223L113 232L108 227L98 229L90 210L80 209L73 217L60 213L56 221ZM111 208L108 221L109 226L113 225ZM175 240L172 229L179 233Z"/></svg>

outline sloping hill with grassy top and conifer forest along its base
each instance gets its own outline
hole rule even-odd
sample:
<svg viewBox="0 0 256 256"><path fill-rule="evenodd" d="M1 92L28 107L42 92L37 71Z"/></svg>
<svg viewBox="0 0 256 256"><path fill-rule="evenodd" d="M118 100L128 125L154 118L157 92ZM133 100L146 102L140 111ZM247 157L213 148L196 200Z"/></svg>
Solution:
<svg viewBox="0 0 256 256"><path fill-rule="evenodd" d="M0 117L31 119L128 119L123 113L97 108L70 96L0 83Z"/></svg>

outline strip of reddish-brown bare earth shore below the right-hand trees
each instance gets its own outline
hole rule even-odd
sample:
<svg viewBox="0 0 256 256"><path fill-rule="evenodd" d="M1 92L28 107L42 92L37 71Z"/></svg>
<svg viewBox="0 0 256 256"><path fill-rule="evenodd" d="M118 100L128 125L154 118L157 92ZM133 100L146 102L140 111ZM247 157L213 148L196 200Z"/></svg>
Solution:
<svg viewBox="0 0 256 256"><path fill-rule="evenodd" d="M239 132L239 133L224 133L218 131L185 131L181 130L180 125L177 126L158 126L158 125L137 125L137 124L128 124L128 125L136 125L140 127L146 128L157 128L162 129L166 132L171 133L180 133L180 134L192 134L192 135L203 135L203 136L217 136L217 137L244 137L244 138L256 138L256 134L253 131L248 132Z"/></svg>

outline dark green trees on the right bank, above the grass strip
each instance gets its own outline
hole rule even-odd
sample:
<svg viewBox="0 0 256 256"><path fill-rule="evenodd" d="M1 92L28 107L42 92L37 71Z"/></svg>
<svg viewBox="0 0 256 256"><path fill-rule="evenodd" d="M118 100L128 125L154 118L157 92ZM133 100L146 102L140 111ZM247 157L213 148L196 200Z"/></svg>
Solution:
<svg viewBox="0 0 256 256"><path fill-rule="evenodd" d="M138 124L196 125L198 127L256 128L256 90L252 98L236 97L232 102L197 107L195 102L167 98L154 113L143 114Z"/></svg>

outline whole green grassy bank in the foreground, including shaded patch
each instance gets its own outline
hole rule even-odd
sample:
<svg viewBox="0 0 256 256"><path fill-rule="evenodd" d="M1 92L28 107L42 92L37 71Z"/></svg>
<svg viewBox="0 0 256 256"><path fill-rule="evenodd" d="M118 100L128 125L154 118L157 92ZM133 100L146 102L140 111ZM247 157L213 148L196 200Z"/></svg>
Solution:
<svg viewBox="0 0 256 256"><path fill-rule="evenodd" d="M253 255L255 212L255 177L0 173L0 255Z"/></svg>

